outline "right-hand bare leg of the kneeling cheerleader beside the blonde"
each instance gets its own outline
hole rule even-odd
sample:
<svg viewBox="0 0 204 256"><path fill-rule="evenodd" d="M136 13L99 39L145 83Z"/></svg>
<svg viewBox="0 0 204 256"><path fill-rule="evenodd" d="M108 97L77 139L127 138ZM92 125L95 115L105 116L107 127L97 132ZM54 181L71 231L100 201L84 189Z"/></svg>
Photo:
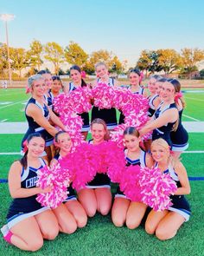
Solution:
<svg viewBox="0 0 204 256"><path fill-rule="evenodd" d="M131 202L127 211L126 225L130 229L134 229L140 225L147 206L140 202Z"/></svg>

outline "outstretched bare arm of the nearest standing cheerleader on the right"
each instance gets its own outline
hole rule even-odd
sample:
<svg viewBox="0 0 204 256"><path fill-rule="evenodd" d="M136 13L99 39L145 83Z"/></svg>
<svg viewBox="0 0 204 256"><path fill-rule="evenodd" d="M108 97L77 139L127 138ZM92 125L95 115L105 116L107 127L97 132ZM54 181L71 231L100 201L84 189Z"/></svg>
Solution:
<svg viewBox="0 0 204 256"><path fill-rule="evenodd" d="M139 134L146 135L150 131L160 128L168 122L175 122L178 119L178 110L171 108L166 110L163 115L159 116L155 120L148 122L142 129L139 130Z"/></svg>

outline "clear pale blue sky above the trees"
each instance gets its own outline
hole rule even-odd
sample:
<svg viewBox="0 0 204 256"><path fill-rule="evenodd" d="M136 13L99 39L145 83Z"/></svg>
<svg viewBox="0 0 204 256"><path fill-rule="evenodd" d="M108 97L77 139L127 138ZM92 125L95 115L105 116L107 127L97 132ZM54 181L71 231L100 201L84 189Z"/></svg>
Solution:
<svg viewBox="0 0 204 256"><path fill-rule="evenodd" d="M87 54L112 51L128 66L143 49L204 49L203 10L203 0L0 0L0 14L16 16L8 23L10 47L73 41Z"/></svg>

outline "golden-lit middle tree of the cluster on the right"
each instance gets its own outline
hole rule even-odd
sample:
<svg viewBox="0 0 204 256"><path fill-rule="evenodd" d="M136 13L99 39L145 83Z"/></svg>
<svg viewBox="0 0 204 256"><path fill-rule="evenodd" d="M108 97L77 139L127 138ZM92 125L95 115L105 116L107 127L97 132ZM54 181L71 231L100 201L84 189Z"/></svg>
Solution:
<svg viewBox="0 0 204 256"><path fill-rule="evenodd" d="M182 58L175 49L158 49L158 65L161 66L165 74L180 69L182 66Z"/></svg>

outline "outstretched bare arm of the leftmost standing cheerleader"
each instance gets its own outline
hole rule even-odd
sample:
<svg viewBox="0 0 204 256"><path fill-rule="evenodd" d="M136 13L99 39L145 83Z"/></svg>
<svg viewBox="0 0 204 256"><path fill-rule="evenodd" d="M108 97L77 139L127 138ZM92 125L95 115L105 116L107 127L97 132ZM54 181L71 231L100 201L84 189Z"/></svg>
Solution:
<svg viewBox="0 0 204 256"><path fill-rule="evenodd" d="M29 104L29 107L26 110L26 114L32 117L36 123L39 124L42 128L45 128L50 135L55 135L58 130L52 126L48 120L42 115L41 109L35 106L35 104Z"/></svg>

